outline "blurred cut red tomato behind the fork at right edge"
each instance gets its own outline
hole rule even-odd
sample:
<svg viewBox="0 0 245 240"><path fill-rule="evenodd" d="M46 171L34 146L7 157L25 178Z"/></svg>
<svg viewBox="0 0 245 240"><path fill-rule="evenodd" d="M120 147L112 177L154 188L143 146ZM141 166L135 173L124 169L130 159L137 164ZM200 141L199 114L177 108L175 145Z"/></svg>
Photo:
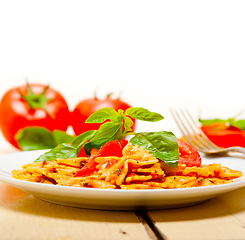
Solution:
<svg viewBox="0 0 245 240"><path fill-rule="evenodd" d="M219 147L245 147L245 131L239 128L217 128L216 125L202 126L201 128L207 137Z"/></svg>

